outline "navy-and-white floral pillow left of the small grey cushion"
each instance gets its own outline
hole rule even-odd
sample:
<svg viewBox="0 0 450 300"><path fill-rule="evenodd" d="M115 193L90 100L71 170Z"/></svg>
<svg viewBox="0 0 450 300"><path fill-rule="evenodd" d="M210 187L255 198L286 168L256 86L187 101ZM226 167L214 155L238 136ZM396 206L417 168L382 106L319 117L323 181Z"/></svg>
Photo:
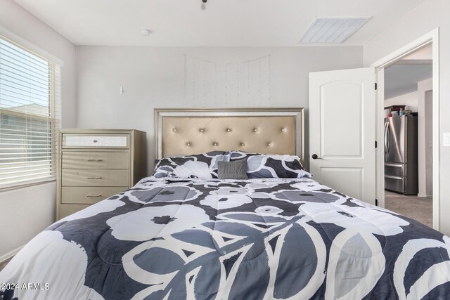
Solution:
<svg viewBox="0 0 450 300"><path fill-rule="evenodd" d="M217 178L218 162L228 162L229 155L224 151L212 151L198 155L166 157L155 166L153 176L178 178Z"/></svg>

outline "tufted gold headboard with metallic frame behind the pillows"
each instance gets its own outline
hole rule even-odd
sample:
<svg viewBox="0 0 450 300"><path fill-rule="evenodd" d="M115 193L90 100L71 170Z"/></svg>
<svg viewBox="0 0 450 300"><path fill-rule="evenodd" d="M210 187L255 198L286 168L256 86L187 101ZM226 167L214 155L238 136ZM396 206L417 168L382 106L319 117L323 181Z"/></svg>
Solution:
<svg viewBox="0 0 450 300"><path fill-rule="evenodd" d="M217 118L215 118L217 117ZM247 118L245 118L247 117ZM217 120L217 122L211 122L212 120ZM294 119L294 120L293 120ZM201 123L202 120L208 120L207 126L211 129L209 131L215 131L215 138L212 139L211 136L208 136L205 131L205 129L198 127L198 129L194 129L192 127L197 126L199 122ZM296 155L299 155L302 160L304 159L304 109L303 108L224 108L224 109L168 109L168 108L162 108L162 109L155 109L155 158L160 159L165 156L165 153L167 153L167 150L165 150L165 147L167 147L167 141L164 140L166 135L166 139L169 140L169 138L172 138L173 141L178 141L174 147L177 150L180 150L180 153L176 152L176 154L186 154L181 153L182 150L188 151L188 148L183 149L181 143L185 145L186 147L191 147L191 141L183 140L183 137L186 138L189 136L195 135L195 133L203 133L205 138L202 140L202 145L197 144L196 152L207 152L207 150L224 150L220 149L223 147L223 144L219 143L220 134L217 133L219 130L217 126L226 126L225 123L229 122L236 122L236 121L243 121L243 120L251 120L251 122L241 122L245 124L240 124L241 127L245 126L252 126L252 122L256 122L255 124L261 124L261 126L265 126L265 131L263 132L263 135L259 135L257 142L254 143L252 146L252 150L254 152L262 152L262 153L274 153L271 152L271 149L276 149L277 154L283 154L282 152L282 143L280 145L276 143L271 143L271 139L279 139L285 144L287 144L287 150L288 152L294 152ZM229 122L227 122L229 121ZM292 124L292 131L288 130L287 128L278 128L279 122L285 122L287 121L288 124ZM189 127L189 122L193 122ZM206 122L206 121L205 121ZM169 126L168 124L182 124L179 126L179 129L181 131L185 131L185 136L181 135L181 132L176 132L176 128L174 125L172 130L163 130L164 126ZM185 125L186 124L186 125ZM231 123L234 124L234 123ZM188 128L186 128L186 126ZM215 126L215 127L214 127ZM237 125L236 125L237 126ZM267 128L269 127L269 128ZM224 128L226 128L224 130ZM222 131L231 131L228 129L228 127L221 128L220 132ZM240 129L240 127L239 127ZM247 128L249 131L255 131L257 133L258 129L257 126L255 128ZM173 131L173 132L172 132ZM190 131L190 132L186 132ZM194 133L195 131L195 133ZM200 133L199 133L200 131ZM269 132L270 131L270 132ZM276 132L275 132L276 131ZM247 132L247 131L245 131ZM173 134L178 134L176 138L173 136ZM280 136L276 136L276 134L280 133ZM282 133L282 134L281 134ZM246 133L247 134L247 133ZM233 142L236 142L236 149L234 150L244 150L249 151L249 149L244 148L245 143L240 142L239 138L242 136L242 134L235 134L236 138L234 138ZM270 138L269 138L270 136ZM221 138L224 138L224 136L221 136ZM227 139L228 137L225 136L225 139L227 143L230 143L230 139ZM252 136L252 138L255 138L255 136ZM181 141L183 140L183 141ZM290 142L287 142L290 141ZM292 143L291 143L292 142ZM274 145L273 145L274 144ZM263 146L264 145L264 146ZM276 145L278 145L278 148L276 148ZM240 146L240 147L239 147ZM209 148L208 148L209 147ZM231 146L229 146L231 147ZM255 147L257 147L255 149ZM269 147L269 148L268 148ZM271 148L272 147L272 148ZM226 149L231 150L231 149ZM193 154L195 150L189 154ZM169 154L175 154L170 153Z"/></svg>

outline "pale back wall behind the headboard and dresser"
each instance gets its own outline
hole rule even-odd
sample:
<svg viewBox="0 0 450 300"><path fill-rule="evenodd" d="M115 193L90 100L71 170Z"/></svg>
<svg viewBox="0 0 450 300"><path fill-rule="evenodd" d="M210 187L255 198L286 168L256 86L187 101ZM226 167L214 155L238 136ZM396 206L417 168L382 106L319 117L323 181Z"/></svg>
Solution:
<svg viewBox="0 0 450 300"><path fill-rule="evenodd" d="M266 60L254 65L246 73L243 63L241 76L264 81L259 93L271 95L271 99L259 101L252 97L248 84L230 91L224 71L226 63L264 58L270 54L269 70L264 71ZM188 60L185 69L185 55ZM207 72L206 84L186 86L195 81L195 72L204 72L202 63L197 69L191 58L217 63L216 75ZM209 63L208 63L209 62ZM361 67L362 48L342 47L280 47L280 48L181 48L181 47L77 47L77 126L80 128L127 128L147 132L148 171L153 170L153 108L155 107L305 107L308 115L308 73ZM215 67L215 65L214 65ZM259 69L261 68L261 69ZM253 74L263 70L264 76ZM252 74L250 74L252 73ZM266 75L270 79L267 81ZM187 83L184 78L188 77ZM236 73L235 73L236 75ZM214 77L213 81L208 78ZM234 75L233 75L234 76ZM256 76L256 77L255 77ZM198 74L197 74L197 77ZM217 79L217 81L215 80ZM232 78L240 82L252 79ZM202 81L203 82L203 81ZM236 83L236 81L235 81ZM267 86L269 85L269 87ZM123 86L124 93L119 89ZM196 90L197 89L197 90ZM198 89L205 89L205 94ZM247 89L247 90L245 90ZM193 94L198 94L193 98ZM250 96L246 96L248 95ZM255 91L258 93L258 91ZM230 96L230 95L233 96ZM308 119L305 118L306 133ZM308 141L306 134L305 140ZM306 156L308 155L306 145ZM307 166L305 166L307 167Z"/></svg>

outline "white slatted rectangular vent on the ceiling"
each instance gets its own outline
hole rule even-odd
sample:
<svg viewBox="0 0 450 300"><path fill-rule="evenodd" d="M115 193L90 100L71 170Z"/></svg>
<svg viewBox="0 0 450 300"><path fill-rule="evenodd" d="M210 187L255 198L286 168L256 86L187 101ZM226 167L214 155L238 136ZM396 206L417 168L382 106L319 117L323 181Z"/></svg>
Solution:
<svg viewBox="0 0 450 300"><path fill-rule="evenodd" d="M300 44L339 44L348 39L371 17L315 18Z"/></svg>

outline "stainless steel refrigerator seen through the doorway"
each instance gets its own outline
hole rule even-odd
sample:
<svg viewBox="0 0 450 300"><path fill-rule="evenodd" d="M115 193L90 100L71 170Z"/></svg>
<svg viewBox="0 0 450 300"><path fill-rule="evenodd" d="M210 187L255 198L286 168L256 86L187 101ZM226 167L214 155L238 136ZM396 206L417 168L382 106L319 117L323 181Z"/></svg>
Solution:
<svg viewBox="0 0 450 300"><path fill-rule="evenodd" d="M385 189L405 195L418 193L417 116L385 119Z"/></svg>

